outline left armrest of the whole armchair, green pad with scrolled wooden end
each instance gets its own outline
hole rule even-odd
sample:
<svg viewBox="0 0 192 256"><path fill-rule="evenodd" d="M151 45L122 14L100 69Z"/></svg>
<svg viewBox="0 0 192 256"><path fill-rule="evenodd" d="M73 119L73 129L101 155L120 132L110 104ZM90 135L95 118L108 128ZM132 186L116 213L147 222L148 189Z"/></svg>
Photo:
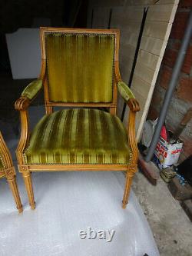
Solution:
<svg viewBox="0 0 192 256"><path fill-rule="evenodd" d="M42 80L36 79L22 91L22 96L15 102L15 109L18 111L25 110L30 105L31 101L38 95L42 88Z"/></svg>

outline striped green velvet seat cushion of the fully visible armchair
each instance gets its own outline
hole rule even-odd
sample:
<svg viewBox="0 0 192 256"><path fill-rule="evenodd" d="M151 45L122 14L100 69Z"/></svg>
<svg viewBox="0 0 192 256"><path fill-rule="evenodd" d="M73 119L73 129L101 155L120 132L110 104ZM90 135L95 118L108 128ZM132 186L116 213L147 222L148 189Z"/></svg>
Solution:
<svg viewBox="0 0 192 256"><path fill-rule="evenodd" d="M45 115L31 133L26 164L127 165L131 151L121 120L97 109Z"/></svg>

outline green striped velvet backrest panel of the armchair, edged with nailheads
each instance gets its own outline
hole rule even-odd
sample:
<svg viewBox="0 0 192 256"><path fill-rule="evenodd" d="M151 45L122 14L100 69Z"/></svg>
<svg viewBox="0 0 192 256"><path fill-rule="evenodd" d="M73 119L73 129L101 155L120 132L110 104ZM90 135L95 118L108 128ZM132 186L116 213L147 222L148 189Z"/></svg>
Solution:
<svg viewBox="0 0 192 256"><path fill-rule="evenodd" d="M111 102L114 39L114 35L46 32L50 101Z"/></svg>

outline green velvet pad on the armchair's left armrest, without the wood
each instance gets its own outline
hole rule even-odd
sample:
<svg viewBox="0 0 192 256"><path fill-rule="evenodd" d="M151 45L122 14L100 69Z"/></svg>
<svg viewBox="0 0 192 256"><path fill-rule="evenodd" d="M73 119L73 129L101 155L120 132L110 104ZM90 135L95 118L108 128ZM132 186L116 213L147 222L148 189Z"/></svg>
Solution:
<svg viewBox="0 0 192 256"><path fill-rule="evenodd" d="M41 79L36 79L31 81L31 83L22 91L22 96L27 97L28 99L32 99L37 95L38 91L41 90L42 81Z"/></svg>

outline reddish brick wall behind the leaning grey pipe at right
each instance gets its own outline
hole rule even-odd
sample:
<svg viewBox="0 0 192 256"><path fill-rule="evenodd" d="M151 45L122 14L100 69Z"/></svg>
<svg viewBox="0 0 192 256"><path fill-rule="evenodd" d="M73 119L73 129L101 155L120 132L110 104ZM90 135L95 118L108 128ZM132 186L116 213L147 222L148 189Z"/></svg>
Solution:
<svg viewBox="0 0 192 256"><path fill-rule="evenodd" d="M162 106L165 92L170 81L174 68L174 63L180 48L181 40L187 26L192 0L181 0L177 8L177 14L170 33L170 38L164 54L161 70L157 78L157 85L154 91L151 107L148 113L148 119L157 118ZM184 59L184 65L180 71L180 78L177 82L177 88L170 101L166 125L170 130L175 131L187 110L192 107L192 40L187 49ZM184 150L180 156L180 161L191 155L192 152L192 120L187 124L180 138L184 141Z"/></svg>

